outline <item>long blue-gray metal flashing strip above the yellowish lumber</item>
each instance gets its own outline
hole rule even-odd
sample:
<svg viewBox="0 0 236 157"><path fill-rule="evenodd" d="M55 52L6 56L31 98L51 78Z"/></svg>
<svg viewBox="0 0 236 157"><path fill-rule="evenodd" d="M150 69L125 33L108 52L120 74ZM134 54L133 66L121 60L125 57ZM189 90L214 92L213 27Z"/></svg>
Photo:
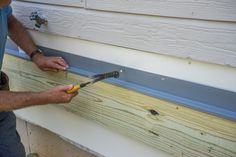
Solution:
<svg viewBox="0 0 236 157"><path fill-rule="evenodd" d="M62 56L70 64L69 71L73 73L91 76L96 73L122 69L123 72L119 79L108 79L107 82L224 118L236 120L235 92L122 67L45 47L40 48L46 53L45 55ZM6 51L8 54L14 56L24 59L28 58L10 43L7 44Z"/></svg>

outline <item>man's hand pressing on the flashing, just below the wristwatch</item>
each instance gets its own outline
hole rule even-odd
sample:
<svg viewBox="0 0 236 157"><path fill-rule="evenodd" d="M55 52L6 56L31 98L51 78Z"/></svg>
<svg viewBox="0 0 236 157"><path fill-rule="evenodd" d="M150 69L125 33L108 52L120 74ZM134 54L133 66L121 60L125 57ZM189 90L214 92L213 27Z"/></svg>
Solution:
<svg viewBox="0 0 236 157"><path fill-rule="evenodd" d="M44 71L66 70L69 66L62 57L46 57L43 54L36 54L33 62Z"/></svg>

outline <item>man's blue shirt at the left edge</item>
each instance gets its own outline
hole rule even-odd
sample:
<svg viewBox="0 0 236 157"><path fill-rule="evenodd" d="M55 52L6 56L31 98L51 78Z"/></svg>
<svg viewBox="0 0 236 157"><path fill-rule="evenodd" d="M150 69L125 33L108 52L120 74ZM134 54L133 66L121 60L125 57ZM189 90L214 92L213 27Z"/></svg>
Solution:
<svg viewBox="0 0 236 157"><path fill-rule="evenodd" d="M10 6L0 8L0 70L2 68L2 60L8 34L7 20L11 14L12 8Z"/></svg>

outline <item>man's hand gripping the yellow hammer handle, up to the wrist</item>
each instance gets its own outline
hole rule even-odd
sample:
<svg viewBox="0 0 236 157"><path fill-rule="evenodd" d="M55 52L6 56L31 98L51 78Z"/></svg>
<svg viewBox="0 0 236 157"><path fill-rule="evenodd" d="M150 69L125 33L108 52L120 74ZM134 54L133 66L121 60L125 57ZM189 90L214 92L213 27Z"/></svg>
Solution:
<svg viewBox="0 0 236 157"><path fill-rule="evenodd" d="M45 104L48 103L69 103L78 92L68 94L67 90L73 88L73 85L56 86L48 91L42 92L42 96L45 98Z"/></svg>

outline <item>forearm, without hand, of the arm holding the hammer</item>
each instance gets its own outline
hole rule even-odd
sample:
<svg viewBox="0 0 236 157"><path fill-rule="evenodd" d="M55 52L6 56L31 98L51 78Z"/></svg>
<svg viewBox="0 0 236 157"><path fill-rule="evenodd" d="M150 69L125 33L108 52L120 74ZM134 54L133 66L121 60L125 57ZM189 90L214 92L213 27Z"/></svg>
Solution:
<svg viewBox="0 0 236 157"><path fill-rule="evenodd" d="M0 91L0 112L42 105L46 102L47 97L44 93Z"/></svg>

